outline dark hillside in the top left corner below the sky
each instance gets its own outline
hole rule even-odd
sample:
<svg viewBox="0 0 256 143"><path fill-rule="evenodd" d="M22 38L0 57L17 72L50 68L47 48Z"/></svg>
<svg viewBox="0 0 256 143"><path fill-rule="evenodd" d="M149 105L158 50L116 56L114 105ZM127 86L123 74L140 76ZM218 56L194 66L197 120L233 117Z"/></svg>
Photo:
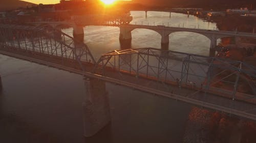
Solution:
<svg viewBox="0 0 256 143"><path fill-rule="evenodd" d="M0 11L17 9L19 7L31 7L33 4L18 0L0 0Z"/></svg>

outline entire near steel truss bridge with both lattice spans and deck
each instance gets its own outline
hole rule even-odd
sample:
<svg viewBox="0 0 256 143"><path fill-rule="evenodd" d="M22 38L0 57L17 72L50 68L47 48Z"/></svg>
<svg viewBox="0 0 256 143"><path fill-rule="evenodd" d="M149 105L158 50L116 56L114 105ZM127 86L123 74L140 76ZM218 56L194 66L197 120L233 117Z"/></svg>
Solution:
<svg viewBox="0 0 256 143"><path fill-rule="evenodd" d="M115 50L98 61L55 29L0 25L0 53L256 120L256 67L155 48Z"/></svg>

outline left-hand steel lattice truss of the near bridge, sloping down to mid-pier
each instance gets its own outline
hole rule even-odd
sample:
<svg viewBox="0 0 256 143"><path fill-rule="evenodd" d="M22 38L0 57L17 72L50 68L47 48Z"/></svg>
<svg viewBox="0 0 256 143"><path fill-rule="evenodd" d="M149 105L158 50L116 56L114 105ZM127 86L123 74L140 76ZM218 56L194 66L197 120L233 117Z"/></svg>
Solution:
<svg viewBox="0 0 256 143"><path fill-rule="evenodd" d="M96 63L86 44L54 28L1 24L0 39L0 44L7 48L76 60L83 70L82 61Z"/></svg>

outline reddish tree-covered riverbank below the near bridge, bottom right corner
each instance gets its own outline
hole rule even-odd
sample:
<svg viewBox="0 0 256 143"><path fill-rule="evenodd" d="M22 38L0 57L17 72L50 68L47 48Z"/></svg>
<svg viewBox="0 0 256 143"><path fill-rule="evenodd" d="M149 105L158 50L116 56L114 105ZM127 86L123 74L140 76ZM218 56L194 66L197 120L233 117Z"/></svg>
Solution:
<svg viewBox="0 0 256 143"><path fill-rule="evenodd" d="M254 143L256 124L220 112L193 107L183 137L184 143Z"/></svg>

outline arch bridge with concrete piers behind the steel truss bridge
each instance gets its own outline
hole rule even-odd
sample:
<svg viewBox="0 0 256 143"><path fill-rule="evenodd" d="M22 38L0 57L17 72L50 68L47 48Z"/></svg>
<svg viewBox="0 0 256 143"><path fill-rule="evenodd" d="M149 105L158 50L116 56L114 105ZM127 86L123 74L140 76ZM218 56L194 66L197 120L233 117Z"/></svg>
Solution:
<svg viewBox="0 0 256 143"><path fill-rule="evenodd" d="M129 19L130 18L130 19ZM132 39L132 31L138 28L143 28L147 30L152 30L157 32L161 36L161 44L168 44L169 43L169 35L175 32L192 32L197 33L200 35L205 36L210 40L209 48L213 49L217 45L217 40L220 38L225 37L234 37L236 42L239 41L240 37L246 37L246 38L253 38L256 39L256 34L254 33L244 33L244 32L231 32L231 31L217 31L217 30L205 30L205 29L199 29L199 28L185 28L185 27L171 27L171 26L164 26L164 25L135 25L135 24L129 24L131 19L131 16L129 16L129 20L122 20L127 21L127 23L118 23L118 22L112 22L107 21L108 18L102 19L100 21L96 20L81 20L84 19L77 16L76 18L73 18L73 21L56 21L56 22L34 22L34 24L37 25L52 25L52 27L58 27L59 25L70 25L73 27L73 35L78 37L83 37L83 26L86 25L101 25L101 26L117 26L120 28L120 34L119 39L120 41L129 41ZM96 21L96 22L95 22ZM117 20L118 21L118 20ZM82 39L82 38L79 38Z"/></svg>

